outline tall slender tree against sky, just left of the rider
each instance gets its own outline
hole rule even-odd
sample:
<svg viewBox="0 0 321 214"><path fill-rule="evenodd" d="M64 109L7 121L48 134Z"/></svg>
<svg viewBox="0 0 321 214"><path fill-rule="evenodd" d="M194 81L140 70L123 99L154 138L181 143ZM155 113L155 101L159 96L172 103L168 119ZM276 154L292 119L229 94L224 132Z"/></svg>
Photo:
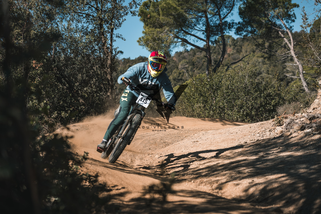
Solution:
<svg viewBox="0 0 321 214"><path fill-rule="evenodd" d="M107 82L103 82L109 97L115 96L113 73L117 71L117 48L113 43L115 38L125 40L122 35L115 33L126 20L129 13L136 15L139 1L131 0L67 0L66 11L71 11L68 22L73 26L82 26L83 38L90 39L96 47L94 56L100 58L96 62L100 69L104 68Z"/></svg>

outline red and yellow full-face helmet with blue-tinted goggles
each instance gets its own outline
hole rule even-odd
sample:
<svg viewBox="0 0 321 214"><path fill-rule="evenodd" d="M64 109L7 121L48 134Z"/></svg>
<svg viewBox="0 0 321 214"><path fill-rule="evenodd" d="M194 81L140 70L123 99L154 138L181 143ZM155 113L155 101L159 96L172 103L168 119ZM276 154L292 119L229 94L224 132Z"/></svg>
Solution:
<svg viewBox="0 0 321 214"><path fill-rule="evenodd" d="M148 72L152 77L157 77L165 69L167 57L161 51L153 51L148 57Z"/></svg>

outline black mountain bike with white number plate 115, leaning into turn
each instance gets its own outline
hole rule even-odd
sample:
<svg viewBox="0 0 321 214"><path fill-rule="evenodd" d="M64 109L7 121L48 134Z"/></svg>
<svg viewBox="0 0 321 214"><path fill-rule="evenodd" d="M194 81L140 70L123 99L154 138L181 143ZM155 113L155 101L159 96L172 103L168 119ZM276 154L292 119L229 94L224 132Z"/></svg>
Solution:
<svg viewBox="0 0 321 214"><path fill-rule="evenodd" d="M142 123L145 116L144 110L148 107L152 100L156 101L157 106L163 106L169 108L171 111L175 111L175 107L161 102L159 99L153 98L154 94L148 94L146 91L150 91L150 88L143 86L136 86L130 82L129 79L124 78L123 81L128 84L129 88L133 91L144 91L138 96L136 103L132 106L132 110L127 116L124 123L118 128L117 132L110 138L107 143L106 150L102 152L101 158L107 159L109 156L109 163L115 163L125 147L129 145L137 132L137 129ZM117 110L115 111L115 116Z"/></svg>

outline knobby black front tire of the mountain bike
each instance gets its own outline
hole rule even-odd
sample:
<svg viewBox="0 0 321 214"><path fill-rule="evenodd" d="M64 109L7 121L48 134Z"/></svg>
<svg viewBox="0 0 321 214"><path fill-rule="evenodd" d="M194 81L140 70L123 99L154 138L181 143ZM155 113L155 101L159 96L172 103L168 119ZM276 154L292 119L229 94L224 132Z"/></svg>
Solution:
<svg viewBox="0 0 321 214"><path fill-rule="evenodd" d="M137 132L137 129L139 128L139 125L142 122L142 118L140 114L135 114L131 125L129 124L122 136L122 138L117 139L118 141L113 149L113 151L110 153L109 156L109 163L115 163L116 160L119 158L120 154L124 151L126 145L130 144Z"/></svg>

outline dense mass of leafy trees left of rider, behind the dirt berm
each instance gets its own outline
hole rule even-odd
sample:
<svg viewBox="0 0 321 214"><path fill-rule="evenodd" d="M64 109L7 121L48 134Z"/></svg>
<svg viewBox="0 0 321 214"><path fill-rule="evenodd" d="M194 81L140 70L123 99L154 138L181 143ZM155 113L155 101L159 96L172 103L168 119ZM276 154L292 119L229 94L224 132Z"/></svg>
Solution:
<svg viewBox="0 0 321 214"><path fill-rule="evenodd" d="M9 80L21 90L28 86L25 108L41 114L34 118L39 118L45 132L114 105L113 42L124 39L114 31L126 15L135 15L138 2L9 0L8 5L4 20L11 29L11 72L6 75L1 65L0 89ZM5 45L0 40L1 64Z"/></svg>

